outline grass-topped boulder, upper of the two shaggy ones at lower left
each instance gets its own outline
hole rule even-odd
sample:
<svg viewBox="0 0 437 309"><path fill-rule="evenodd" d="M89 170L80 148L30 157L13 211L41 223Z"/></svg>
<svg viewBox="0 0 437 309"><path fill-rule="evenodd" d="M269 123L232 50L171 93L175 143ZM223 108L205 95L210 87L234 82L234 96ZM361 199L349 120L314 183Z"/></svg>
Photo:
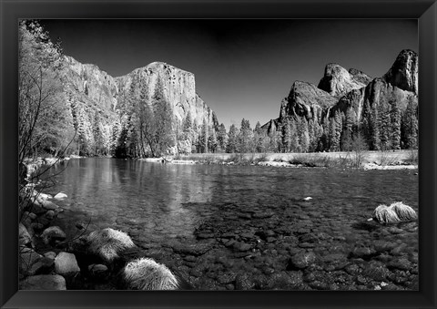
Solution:
<svg viewBox="0 0 437 309"><path fill-rule="evenodd" d="M91 232L86 242L88 252L96 254L106 263L111 263L119 257L119 253L135 247L135 243L126 232L111 228Z"/></svg>

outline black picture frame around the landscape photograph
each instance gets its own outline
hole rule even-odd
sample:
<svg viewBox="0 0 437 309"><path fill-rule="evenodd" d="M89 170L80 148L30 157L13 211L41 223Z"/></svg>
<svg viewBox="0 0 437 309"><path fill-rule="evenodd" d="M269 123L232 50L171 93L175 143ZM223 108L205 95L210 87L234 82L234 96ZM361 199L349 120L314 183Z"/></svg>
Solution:
<svg viewBox="0 0 437 309"><path fill-rule="evenodd" d="M435 0L0 0L0 305L2 308L436 308L437 4ZM420 291L18 291L17 21L19 18L415 18L419 23ZM323 31L323 29L320 29Z"/></svg>

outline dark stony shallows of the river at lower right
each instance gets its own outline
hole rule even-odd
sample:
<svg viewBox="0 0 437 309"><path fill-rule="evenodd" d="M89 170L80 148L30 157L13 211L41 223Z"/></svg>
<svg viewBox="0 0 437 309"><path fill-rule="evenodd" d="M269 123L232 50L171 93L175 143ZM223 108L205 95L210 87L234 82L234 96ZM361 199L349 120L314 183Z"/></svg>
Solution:
<svg viewBox="0 0 437 309"><path fill-rule="evenodd" d="M143 249L196 289L418 289L417 221L381 225L362 218L344 231L342 222L328 223L335 211L314 207L223 204L198 226L195 242L179 238L163 247L151 240ZM297 208L306 214L297 217Z"/></svg>

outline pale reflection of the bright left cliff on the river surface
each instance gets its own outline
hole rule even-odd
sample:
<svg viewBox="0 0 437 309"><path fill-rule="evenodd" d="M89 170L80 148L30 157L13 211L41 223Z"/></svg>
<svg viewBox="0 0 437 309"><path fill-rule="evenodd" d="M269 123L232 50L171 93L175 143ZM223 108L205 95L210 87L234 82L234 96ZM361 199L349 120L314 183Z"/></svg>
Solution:
<svg viewBox="0 0 437 309"><path fill-rule="evenodd" d="M184 204L210 201L212 192L204 170L135 160L70 160L55 178L51 190L69 197L64 207L88 211L101 227L136 225L151 237L192 237L198 211Z"/></svg>

